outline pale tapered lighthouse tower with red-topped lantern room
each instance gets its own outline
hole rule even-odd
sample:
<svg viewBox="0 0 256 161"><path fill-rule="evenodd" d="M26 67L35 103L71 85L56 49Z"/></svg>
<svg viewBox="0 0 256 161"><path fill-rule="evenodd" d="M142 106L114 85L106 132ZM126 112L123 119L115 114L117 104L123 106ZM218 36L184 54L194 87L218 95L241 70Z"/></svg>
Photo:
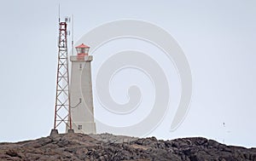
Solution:
<svg viewBox="0 0 256 161"><path fill-rule="evenodd" d="M76 47L77 55L70 56L71 83L70 106L72 127L75 133L96 134L94 122L89 46Z"/></svg>

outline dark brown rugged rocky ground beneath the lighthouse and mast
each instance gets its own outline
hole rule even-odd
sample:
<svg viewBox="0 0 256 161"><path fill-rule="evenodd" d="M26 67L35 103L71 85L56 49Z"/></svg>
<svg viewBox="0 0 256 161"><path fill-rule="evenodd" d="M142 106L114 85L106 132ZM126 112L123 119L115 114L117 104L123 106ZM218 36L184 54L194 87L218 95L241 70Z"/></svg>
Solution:
<svg viewBox="0 0 256 161"><path fill-rule="evenodd" d="M255 160L256 148L234 147L201 137L159 141L67 134L0 143L0 160Z"/></svg>

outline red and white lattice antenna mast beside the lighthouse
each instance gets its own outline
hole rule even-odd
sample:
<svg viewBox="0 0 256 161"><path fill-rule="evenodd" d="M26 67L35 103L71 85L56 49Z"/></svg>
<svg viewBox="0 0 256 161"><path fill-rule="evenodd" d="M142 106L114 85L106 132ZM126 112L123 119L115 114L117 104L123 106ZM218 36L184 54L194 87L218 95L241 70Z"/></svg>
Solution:
<svg viewBox="0 0 256 161"><path fill-rule="evenodd" d="M66 128L68 132L73 132L70 112L69 97L69 75L68 75L68 55L67 55L67 21L59 20L59 43L58 43L58 67L55 97L55 123L51 135L58 134L58 128Z"/></svg>

